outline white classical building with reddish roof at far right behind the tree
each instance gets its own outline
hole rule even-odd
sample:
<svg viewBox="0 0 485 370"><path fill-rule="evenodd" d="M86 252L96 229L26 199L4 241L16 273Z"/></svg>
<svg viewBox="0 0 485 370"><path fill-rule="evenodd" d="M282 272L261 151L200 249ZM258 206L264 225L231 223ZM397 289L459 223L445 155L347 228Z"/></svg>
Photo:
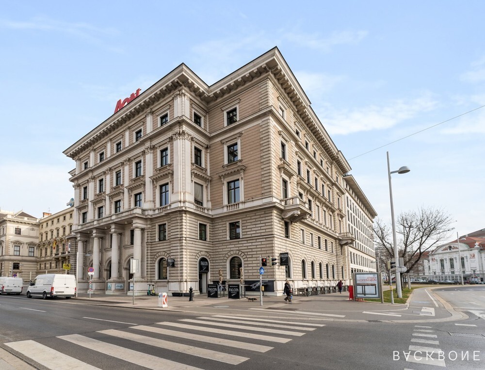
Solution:
<svg viewBox="0 0 485 370"><path fill-rule="evenodd" d="M426 277L461 282L461 267L465 282L484 282L485 233L480 231L440 245L430 252L425 264Z"/></svg>

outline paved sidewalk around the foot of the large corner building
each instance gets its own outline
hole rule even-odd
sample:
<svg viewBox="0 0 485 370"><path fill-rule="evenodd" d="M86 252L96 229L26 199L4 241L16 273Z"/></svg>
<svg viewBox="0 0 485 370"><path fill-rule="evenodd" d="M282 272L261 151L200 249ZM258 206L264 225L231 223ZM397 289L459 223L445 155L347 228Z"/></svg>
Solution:
<svg viewBox="0 0 485 370"><path fill-rule="evenodd" d="M446 302L437 297L436 302L426 304L427 293L423 289L414 290L407 304L382 304L374 302L349 301L349 293L331 293L316 296L293 296L293 302L288 304L284 296L263 296L263 304L256 297L256 302L246 298L228 299L226 297L208 298L205 295L195 295L193 301L189 297L168 296L168 307L162 308L162 299L158 296L100 295L78 294L72 303L124 307L131 309L148 309L155 311L176 311L195 314L238 314L238 315L268 315L268 317L291 314L301 319L344 321L344 322L442 322L466 319L461 312L454 311ZM427 288L432 292L432 289ZM427 306L427 307L426 307ZM426 307L426 308L423 308ZM431 308L429 308L431 307ZM432 311L432 315L431 312Z"/></svg>

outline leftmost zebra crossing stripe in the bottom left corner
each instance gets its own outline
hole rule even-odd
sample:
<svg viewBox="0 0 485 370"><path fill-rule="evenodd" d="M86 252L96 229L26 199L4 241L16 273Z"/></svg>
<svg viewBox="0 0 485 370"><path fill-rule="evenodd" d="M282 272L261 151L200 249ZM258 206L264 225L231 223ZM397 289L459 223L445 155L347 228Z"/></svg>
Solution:
<svg viewBox="0 0 485 370"><path fill-rule="evenodd" d="M68 356L59 351L43 344L34 342L33 340L22 340L19 342L5 343L6 346L25 354L35 362L38 362L42 366L48 369L55 370L99 370L94 366L86 364L78 360L77 358Z"/></svg>

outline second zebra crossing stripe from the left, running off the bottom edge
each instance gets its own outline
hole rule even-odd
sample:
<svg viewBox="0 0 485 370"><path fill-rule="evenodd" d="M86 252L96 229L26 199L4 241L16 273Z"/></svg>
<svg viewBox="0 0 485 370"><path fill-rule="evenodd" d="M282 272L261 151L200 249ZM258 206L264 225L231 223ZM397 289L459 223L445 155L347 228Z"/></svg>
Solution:
<svg viewBox="0 0 485 370"><path fill-rule="evenodd" d="M92 351L97 351L102 354L107 354L120 360L130 362L132 364L144 366L148 369L158 370L160 369L161 364L163 364L163 367L166 367L167 369L200 370L199 368L195 368L193 366L170 361L166 358L153 356L151 354L133 351L129 348L116 346L114 344L102 342L97 339L83 337L79 334L65 335L57 338L64 339L65 341L77 344L81 347L88 348ZM58 360L56 359L56 361Z"/></svg>

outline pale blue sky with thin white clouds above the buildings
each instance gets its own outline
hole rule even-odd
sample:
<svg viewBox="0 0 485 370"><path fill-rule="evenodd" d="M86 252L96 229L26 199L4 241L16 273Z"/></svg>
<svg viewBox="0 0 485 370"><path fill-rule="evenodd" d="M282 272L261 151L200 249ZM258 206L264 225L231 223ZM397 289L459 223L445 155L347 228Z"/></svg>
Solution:
<svg viewBox="0 0 485 370"><path fill-rule="evenodd" d="M295 7L295 5L297 5ZM485 227L483 1L10 1L0 14L0 208L73 196L62 153L180 63L208 84L277 46L383 220Z"/></svg>

